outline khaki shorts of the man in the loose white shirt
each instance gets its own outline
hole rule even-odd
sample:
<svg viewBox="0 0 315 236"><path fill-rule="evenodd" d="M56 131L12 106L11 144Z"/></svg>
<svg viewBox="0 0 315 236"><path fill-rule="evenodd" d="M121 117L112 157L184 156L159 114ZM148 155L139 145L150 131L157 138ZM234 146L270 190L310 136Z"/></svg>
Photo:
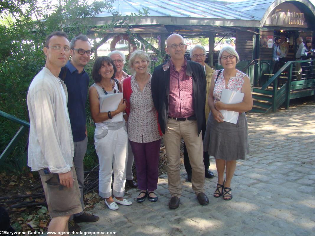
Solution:
<svg viewBox="0 0 315 236"><path fill-rule="evenodd" d="M69 216L82 212L81 193L74 167L71 167L71 172L74 186L67 188L60 184L59 175L51 173L48 168L38 171L42 180L49 215L53 217Z"/></svg>

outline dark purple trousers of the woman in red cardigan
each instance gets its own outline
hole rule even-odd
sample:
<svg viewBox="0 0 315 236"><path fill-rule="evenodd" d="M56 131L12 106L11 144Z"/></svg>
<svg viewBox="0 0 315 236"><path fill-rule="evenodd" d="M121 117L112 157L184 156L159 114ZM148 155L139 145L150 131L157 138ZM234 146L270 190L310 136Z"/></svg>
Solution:
<svg viewBox="0 0 315 236"><path fill-rule="evenodd" d="M157 189L158 163L160 157L161 139L150 143L130 141L132 153L135 156L138 188L154 191Z"/></svg>

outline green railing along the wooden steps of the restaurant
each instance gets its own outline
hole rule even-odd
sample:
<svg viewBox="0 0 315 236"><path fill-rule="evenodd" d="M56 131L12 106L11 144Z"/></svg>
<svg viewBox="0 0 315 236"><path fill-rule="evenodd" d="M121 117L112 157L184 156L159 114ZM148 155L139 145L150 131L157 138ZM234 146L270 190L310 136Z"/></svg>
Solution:
<svg viewBox="0 0 315 236"><path fill-rule="evenodd" d="M315 61L315 60L312 60ZM283 65L266 83L261 87L261 89L265 90L268 86L272 86L272 111L275 112L281 104L284 104L285 109L289 108L290 99L304 97L314 95L314 90L307 93L300 93L300 95L292 96L291 90L301 89L301 88L311 88L315 86L315 79L296 79L293 80L293 65L294 63L301 62L309 62L309 60L302 61L288 61L285 65ZM278 77L287 70L288 79L286 82L282 84L280 88L278 88ZM314 71L315 72L315 71ZM303 91L301 91L303 92Z"/></svg>

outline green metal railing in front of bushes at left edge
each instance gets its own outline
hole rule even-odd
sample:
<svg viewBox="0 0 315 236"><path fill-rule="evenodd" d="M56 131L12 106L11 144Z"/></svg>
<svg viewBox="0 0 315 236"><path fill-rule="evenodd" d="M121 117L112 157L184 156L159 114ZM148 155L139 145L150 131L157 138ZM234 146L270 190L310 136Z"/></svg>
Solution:
<svg viewBox="0 0 315 236"><path fill-rule="evenodd" d="M5 113L3 111L0 111L0 116L10 120L14 121L20 125L22 125L18 132L14 135L8 146L3 150L0 156L0 164L3 163L3 161L8 157L10 152L14 149L15 145L19 142L19 140L22 138L23 134L27 131L27 129L30 127L30 123L23 121L13 115L9 115L8 113Z"/></svg>

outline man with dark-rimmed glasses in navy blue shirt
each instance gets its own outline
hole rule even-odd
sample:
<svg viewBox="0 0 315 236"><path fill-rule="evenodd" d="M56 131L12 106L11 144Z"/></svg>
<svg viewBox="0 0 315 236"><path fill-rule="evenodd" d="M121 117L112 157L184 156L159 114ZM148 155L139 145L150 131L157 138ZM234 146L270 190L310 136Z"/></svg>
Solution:
<svg viewBox="0 0 315 236"><path fill-rule="evenodd" d="M84 70L92 55L91 44L88 37L78 35L70 42L71 61L60 71L61 78L68 90L68 111L72 129L74 157L73 163L76 168L77 180L81 192L81 205L83 204L83 159L88 146L88 136L86 130L85 104L89 88L89 75ZM99 217L81 211L69 219L69 231L81 231L77 223L95 222Z"/></svg>

